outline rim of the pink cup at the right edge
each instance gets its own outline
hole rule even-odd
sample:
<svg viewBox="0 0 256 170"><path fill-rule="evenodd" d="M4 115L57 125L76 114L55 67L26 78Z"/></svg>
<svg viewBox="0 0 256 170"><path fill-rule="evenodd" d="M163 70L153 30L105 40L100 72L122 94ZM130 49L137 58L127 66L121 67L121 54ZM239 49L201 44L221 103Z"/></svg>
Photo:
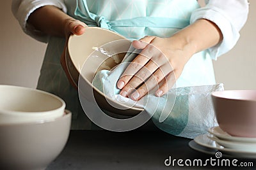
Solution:
<svg viewBox="0 0 256 170"><path fill-rule="evenodd" d="M216 97L219 99L227 99L227 100L232 100L232 101L250 101L250 102L256 102L256 99L236 99L236 98L231 98L231 97L223 97L221 96L222 93L225 92L253 92L256 94L256 90L223 90L223 91L216 91L212 92L211 96Z"/></svg>

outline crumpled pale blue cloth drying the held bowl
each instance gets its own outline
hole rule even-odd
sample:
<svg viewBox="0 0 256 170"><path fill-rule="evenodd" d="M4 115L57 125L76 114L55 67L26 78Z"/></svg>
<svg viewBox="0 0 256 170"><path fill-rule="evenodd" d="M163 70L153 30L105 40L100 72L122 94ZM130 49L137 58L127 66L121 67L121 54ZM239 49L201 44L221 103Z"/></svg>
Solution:
<svg viewBox="0 0 256 170"><path fill-rule="evenodd" d="M117 103L144 108L159 129L175 136L193 139L205 134L210 127L218 125L211 92L223 90L223 84L174 87L162 97L155 96L156 89L153 89L137 102L120 96L120 89L116 87L116 83L129 62L140 53L140 50L131 48L115 69L99 71L93 79L93 86Z"/></svg>

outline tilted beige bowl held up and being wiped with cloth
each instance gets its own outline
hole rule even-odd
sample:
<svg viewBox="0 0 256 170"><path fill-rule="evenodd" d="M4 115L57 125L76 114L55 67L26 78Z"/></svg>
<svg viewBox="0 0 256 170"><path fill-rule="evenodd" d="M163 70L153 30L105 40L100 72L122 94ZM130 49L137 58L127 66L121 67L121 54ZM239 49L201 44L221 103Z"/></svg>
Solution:
<svg viewBox="0 0 256 170"><path fill-rule="evenodd" d="M92 81L97 71L104 67L112 69L116 64L120 64L130 45L131 41L129 39L125 39L113 31L99 27L86 27L83 35L70 36L66 51L68 68L66 74L73 85L78 87L79 78L83 78L83 89L86 90L84 96L88 96L88 93L93 89L95 101L97 101L100 108L119 115L137 115L143 109L136 107L129 108L124 104L116 103L116 101L108 96L104 96L100 90L93 87ZM102 46L104 48L101 48ZM112 54L116 53L115 57L119 57L119 63L116 63L113 57L108 56L109 52ZM92 101L92 99L88 100Z"/></svg>

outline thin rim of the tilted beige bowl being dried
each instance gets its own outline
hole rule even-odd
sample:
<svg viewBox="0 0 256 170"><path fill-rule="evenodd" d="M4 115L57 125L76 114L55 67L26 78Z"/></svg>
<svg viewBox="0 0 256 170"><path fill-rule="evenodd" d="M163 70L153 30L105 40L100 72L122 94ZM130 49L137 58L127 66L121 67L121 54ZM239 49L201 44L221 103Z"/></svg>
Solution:
<svg viewBox="0 0 256 170"><path fill-rule="evenodd" d="M104 30L104 31L107 31L107 32L110 32L111 34L115 34L116 36L119 36L120 38L122 38L122 39L127 39L127 38L125 38L124 36L122 36L122 35L120 35L120 34L117 34L116 32L113 32L113 31L109 31L108 29L103 29L103 28L101 28L101 27L86 27L86 29L99 29L99 30ZM73 39L74 37L76 37L76 36L70 36L69 38L68 38L68 45L67 45L67 49L68 49L68 55L70 55L70 41L72 41L71 39ZM122 40L122 39L117 39L117 40L114 40L114 41L118 41L118 40ZM129 40L129 39L127 39L127 40ZM108 43L105 43L104 45L106 45L106 44L108 44ZM100 45L100 46L103 46L103 45ZM93 52L95 52L95 50L93 50ZM92 52L92 53L93 53ZM90 53L90 55L92 55L92 53ZM89 56L90 56L89 55ZM73 62L73 64L74 64L74 60L73 60L73 58L70 56L70 59L72 60L72 62ZM76 67L76 70L77 70L77 72L79 73L79 78L81 77L81 74L80 74L80 72L79 72L79 68L74 64L74 67ZM128 110L134 110L134 111L143 111L144 109L143 108L137 108L137 107L129 107L129 106L127 106L127 105L125 105L125 104L122 104L122 103L117 103L116 101L114 101L113 99L111 99L111 97L109 97L109 96L106 96L103 92L101 92L99 89L97 89L96 87L94 87L93 86L93 84L92 84L92 82L90 82L89 80L87 80L87 78L84 78L83 77L83 79L90 85L90 87L92 87L93 88L93 90L95 90L97 93L99 93L100 94L100 96L102 96L102 97L105 97L106 98L106 100L108 101L111 101L111 102L113 102L113 103L116 103L116 104L119 104L120 106L122 106L122 107L124 107L124 108L127 108ZM77 85L77 87L78 87L78 85Z"/></svg>

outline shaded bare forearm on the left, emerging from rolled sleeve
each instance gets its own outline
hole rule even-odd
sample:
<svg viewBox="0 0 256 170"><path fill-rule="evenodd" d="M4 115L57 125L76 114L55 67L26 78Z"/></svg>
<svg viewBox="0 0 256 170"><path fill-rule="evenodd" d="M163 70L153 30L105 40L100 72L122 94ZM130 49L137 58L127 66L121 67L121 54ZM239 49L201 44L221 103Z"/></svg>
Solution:
<svg viewBox="0 0 256 170"><path fill-rule="evenodd" d="M67 20L74 19L55 6L42 6L29 15L28 24L46 34L65 37Z"/></svg>

